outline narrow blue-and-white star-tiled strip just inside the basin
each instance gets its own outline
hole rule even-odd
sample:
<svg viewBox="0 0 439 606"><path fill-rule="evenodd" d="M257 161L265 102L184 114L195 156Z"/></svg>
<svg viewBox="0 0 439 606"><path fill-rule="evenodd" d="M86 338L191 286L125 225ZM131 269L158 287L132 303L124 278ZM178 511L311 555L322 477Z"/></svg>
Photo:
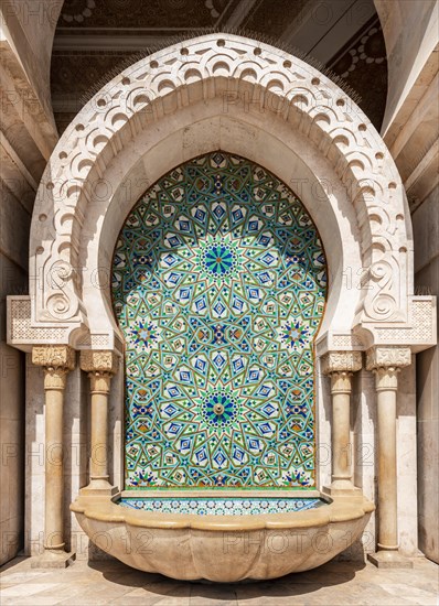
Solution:
<svg viewBox="0 0 439 606"><path fill-rule="evenodd" d="M122 507L157 513L196 513L199 516L257 516L259 513L290 513L325 505L322 499L265 498L122 498Z"/></svg>

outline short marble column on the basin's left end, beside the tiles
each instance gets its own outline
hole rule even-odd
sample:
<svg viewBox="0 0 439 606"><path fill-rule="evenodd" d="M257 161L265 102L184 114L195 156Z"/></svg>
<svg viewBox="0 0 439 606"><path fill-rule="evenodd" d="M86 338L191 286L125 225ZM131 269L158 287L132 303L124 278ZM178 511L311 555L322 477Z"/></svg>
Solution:
<svg viewBox="0 0 439 606"><path fill-rule="evenodd" d="M115 495L108 473L108 397L118 357L110 350L81 351L81 368L90 380L90 459L89 484L82 496Z"/></svg>

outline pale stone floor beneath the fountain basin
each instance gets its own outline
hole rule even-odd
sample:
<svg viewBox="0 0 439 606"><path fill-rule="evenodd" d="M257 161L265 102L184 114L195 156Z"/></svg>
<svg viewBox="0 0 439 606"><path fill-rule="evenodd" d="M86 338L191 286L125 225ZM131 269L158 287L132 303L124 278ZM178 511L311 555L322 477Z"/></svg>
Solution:
<svg viewBox="0 0 439 606"><path fill-rule="evenodd" d="M62 571L31 569L17 559L0 569L0 604L50 606L282 606L436 605L439 566L418 558L414 570L330 562L277 581L243 585L183 583L141 573L119 562L75 562Z"/></svg>

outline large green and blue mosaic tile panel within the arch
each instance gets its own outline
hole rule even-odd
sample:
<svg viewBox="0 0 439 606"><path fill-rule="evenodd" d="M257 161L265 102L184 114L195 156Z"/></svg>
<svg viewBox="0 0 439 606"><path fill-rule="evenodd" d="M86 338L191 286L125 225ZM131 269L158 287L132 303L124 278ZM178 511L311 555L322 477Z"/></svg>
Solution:
<svg viewBox="0 0 439 606"><path fill-rule="evenodd" d="M315 226L265 169L216 152L163 176L117 242L126 487L314 486Z"/></svg>

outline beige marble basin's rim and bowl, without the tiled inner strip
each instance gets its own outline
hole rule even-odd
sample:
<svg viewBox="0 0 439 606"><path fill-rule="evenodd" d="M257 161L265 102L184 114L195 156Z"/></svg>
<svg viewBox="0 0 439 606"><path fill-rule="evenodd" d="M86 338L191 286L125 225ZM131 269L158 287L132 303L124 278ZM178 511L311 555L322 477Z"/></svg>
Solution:
<svg viewBox="0 0 439 606"><path fill-rule="evenodd" d="M247 495L250 497L250 495ZM181 581L236 583L321 566L364 531L374 506L360 493L287 513L194 515L116 505L82 494L72 504L90 540L133 569Z"/></svg>

